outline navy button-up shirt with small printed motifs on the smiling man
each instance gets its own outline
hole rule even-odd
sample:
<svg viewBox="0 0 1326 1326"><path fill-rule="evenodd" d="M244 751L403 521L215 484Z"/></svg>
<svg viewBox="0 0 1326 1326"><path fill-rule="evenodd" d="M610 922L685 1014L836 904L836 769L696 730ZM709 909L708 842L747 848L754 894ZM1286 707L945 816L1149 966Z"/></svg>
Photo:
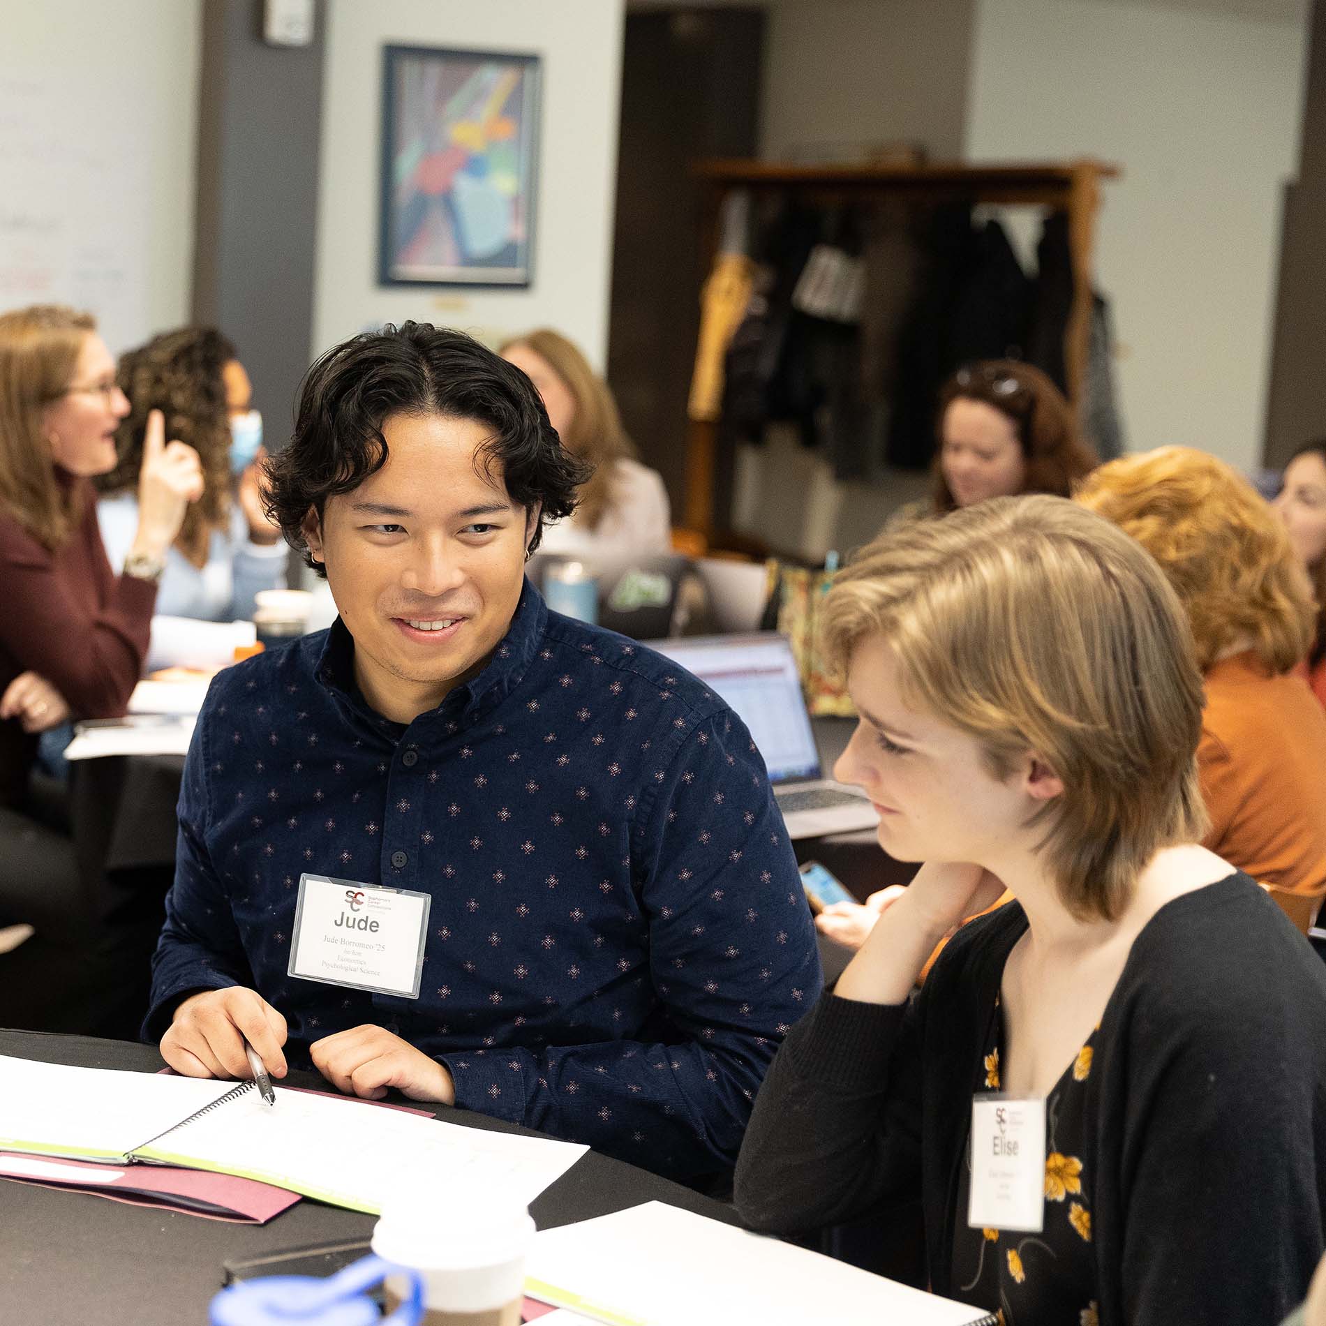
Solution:
<svg viewBox="0 0 1326 1326"><path fill-rule="evenodd" d="M292 1063L375 1022L465 1109L672 1177L729 1170L821 987L741 720L528 582L489 666L408 725L369 708L353 651L337 622L213 682L145 1036L188 992L248 985ZM432 896L418 1000L286 975L302 873Z"/></svg>

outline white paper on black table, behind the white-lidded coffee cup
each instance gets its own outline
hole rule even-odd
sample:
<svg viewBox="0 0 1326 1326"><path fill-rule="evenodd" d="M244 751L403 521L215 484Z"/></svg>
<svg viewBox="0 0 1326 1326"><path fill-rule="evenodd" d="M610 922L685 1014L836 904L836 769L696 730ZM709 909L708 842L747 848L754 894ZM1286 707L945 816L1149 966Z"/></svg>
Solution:
<svg viewBox="0 0 1326 1326"><path fill-rule="evenodd" d="M534 1236L525 1293L618 1326L969 1326L977 1307L648 1201Z"/></svg>

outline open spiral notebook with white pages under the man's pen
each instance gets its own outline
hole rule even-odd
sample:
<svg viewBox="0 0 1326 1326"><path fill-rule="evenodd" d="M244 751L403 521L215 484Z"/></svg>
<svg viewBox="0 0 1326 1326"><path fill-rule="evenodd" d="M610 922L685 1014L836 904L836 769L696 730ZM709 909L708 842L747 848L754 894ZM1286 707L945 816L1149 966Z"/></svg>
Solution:
<svg viewBox="0 0 1326 1326"><path fill-rule="evenodd" d="M0 1055L0 1151L212 1170L378 1215L399 1176L422 1167L528 1204L589 1150L274 1090L268 1106L252 1082Z"/></svg>

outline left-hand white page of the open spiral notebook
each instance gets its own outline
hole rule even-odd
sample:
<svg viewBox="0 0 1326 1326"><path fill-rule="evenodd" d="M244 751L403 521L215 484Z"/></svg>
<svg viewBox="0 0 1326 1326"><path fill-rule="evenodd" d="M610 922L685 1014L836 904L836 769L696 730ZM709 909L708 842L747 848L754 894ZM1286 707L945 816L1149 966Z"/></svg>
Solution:
<svg viewBox="0 0 1326 1326"><path fill-rule="evenodd" d="M0 1054L0 1150L123 1159L233 1086Z"/></svg>

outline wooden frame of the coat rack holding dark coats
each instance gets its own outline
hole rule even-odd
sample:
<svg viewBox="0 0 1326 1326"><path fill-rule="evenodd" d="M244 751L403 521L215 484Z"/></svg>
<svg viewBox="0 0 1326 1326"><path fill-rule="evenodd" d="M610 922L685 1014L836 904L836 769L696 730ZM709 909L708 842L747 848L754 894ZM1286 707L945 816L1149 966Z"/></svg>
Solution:
<svg viewBox="0 0 1326 1326"><path fill-rule="evenodd" d="M1097 160L1030 166L777 166L756 160L709 160L695 167L704 186L705 271L717 256L719 216L731 190L796 192L822 203L857 202L873 194L923 202L1002 203L1048 207L1069 217L1073 309L1063 335L1069 399L1078 406L1091 337L1091 245L1101 180L1119 168ZM686 524L715 537L713 488L717 424L692 419L687 434Z"/></svg>

